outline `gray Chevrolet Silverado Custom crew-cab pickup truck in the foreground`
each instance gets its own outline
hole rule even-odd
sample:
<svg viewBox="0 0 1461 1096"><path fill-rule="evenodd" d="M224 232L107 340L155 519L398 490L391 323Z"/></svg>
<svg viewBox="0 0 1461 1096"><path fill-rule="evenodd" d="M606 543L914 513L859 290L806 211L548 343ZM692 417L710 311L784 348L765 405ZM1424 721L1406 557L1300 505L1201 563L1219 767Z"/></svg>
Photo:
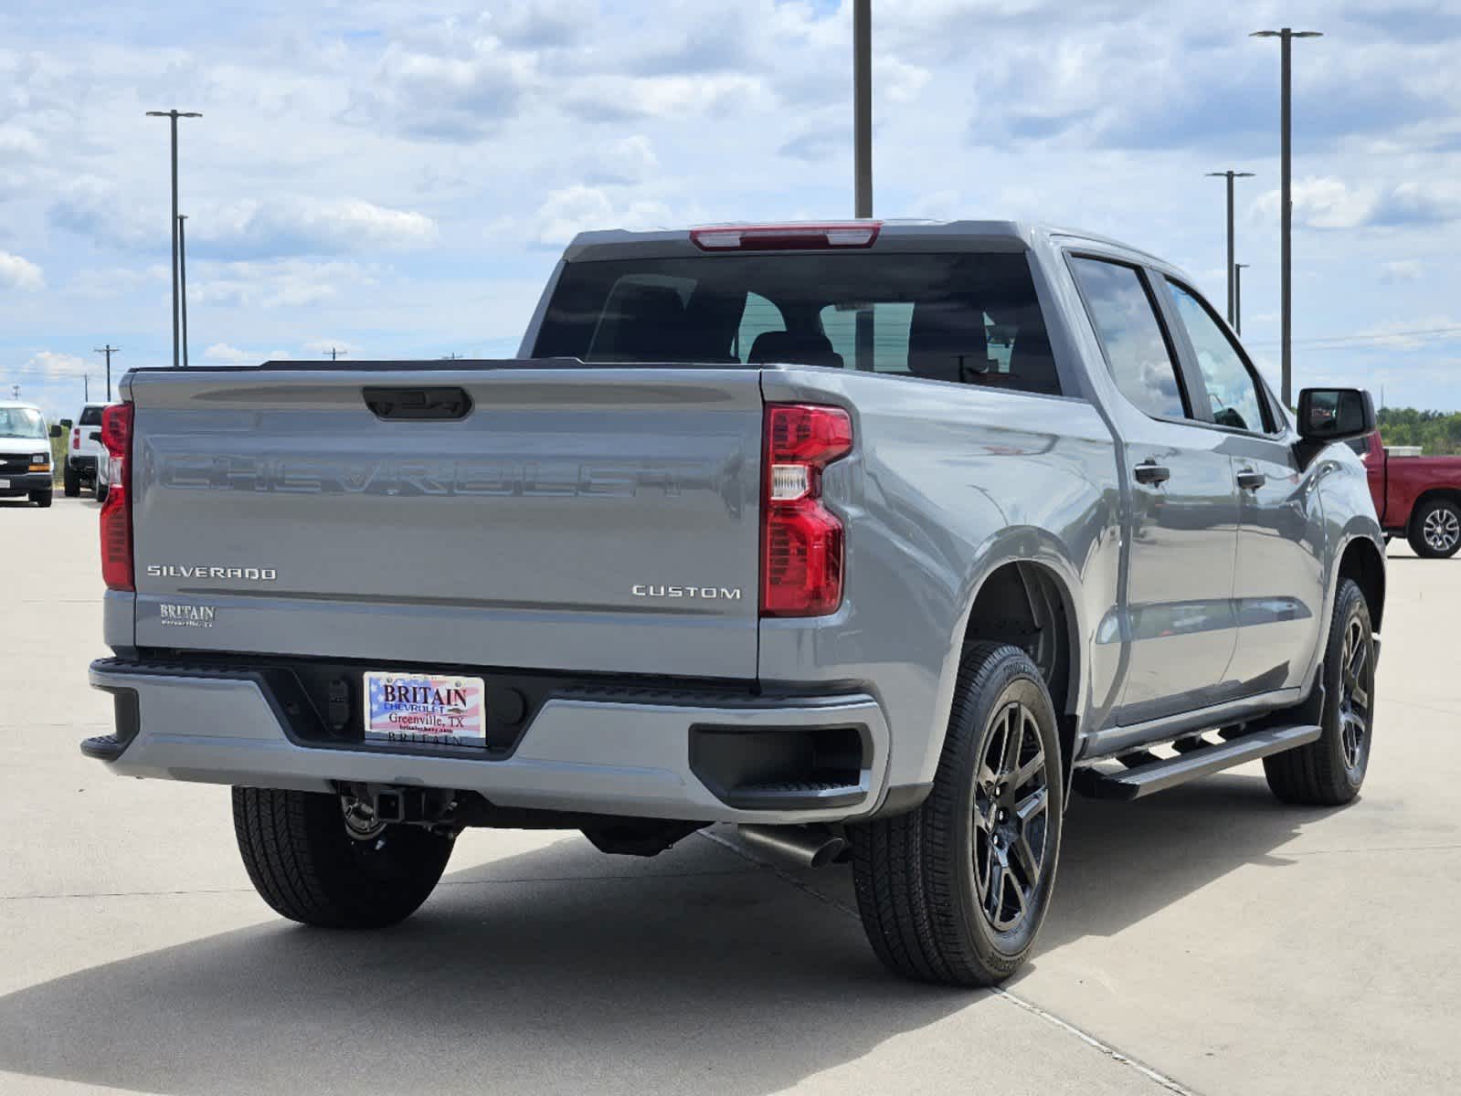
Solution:
<svg viewBox="0 0 1461 1096"><path fill-rule="evenodd" d="M850 859L893 970L1029 956L1071 792L1365 777L1385 557L1192 281L1008 222L590 232L510 361L136 370L127 776L234 788L279 913L381 926L465 829Z"/></svg>

